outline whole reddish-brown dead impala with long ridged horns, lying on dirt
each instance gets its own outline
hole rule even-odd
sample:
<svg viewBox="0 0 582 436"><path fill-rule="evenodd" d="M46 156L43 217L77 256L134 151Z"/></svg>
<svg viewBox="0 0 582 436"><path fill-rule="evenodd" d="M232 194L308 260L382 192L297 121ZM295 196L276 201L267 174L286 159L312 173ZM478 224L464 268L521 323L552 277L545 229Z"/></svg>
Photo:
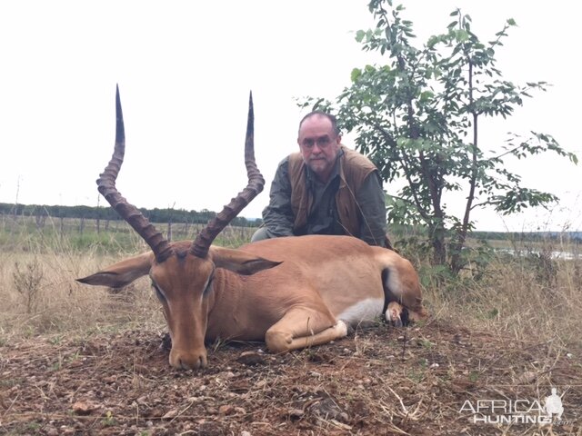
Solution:
<svg viewBox="0 0 582 436"><path fill-rule="evenodd" d="M252 98L245 145L248 185L194 242L166 241L116 190L125 152L118 89L116 117L115 151L97 180L98 189L152 252L78 281L118 288L149 274L164 306L172 366L206 366L205 339L264 340L271 352L286 352L342 338L348 327L373 321L384 310L386 319L400 323L400 303L411 320L426 318L411 263L356 238L287 237L238 250L211 245L265 184L255 163Z"/></svg>

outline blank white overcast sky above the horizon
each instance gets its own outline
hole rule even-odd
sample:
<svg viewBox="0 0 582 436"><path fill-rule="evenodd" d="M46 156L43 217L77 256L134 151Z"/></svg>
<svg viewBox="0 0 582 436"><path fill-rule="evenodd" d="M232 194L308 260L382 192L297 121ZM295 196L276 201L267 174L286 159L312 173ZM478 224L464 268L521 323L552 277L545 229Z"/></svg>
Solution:
<svg viewBox="0 0 582 436"><path fill-rule="evenodd" d="M252 90L256 160L267 183L241 215L260 216L277 163L297 149L304 113L295 98L334 98L349 84L352 68L378 60L354 39L356 30L374 25L366 4L3 0L0 203L95 206L95 179L113 152L119 84L126 134L119 191L137 207L218 211L246 185L243 145ZM498 148L509 131L535 130L582 157L576 2L403 4L419 47L445 30L457 7L471 15L482 41L514 18L518 26L497 51L498 67L515 84L544 80L553 86L510 119L481 124L481 144ZM353 138L344 142L354 145ZM476 213L477 229L581 230L582 165L549 154L519 164L512 169L523 174L524 184L562 201L551 213L503 219ZM462 194L447 197L451 211L462 201Z"/></svg>

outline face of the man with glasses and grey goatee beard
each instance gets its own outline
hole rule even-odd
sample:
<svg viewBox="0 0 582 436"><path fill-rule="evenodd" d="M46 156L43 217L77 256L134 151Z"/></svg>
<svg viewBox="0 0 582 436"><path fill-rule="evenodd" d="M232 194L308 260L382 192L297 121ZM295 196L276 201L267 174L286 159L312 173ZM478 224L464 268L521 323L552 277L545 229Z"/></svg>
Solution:
<svg viewBox="0 0 582 436"><path fill-rule="evenodd" d="M321 182L327 182L334 170L341 139L326 116L310 116L299 128L297 143L303 160Z"/></svg>

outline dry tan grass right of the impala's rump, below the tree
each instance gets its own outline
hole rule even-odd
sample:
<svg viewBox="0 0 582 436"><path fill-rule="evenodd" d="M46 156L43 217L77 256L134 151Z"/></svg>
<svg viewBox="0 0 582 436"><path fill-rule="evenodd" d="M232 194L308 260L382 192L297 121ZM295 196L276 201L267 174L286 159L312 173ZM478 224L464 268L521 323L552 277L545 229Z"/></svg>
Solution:
<svg viewBox="0 0 582 436"><path fill-rule="evenodd" d="M441 314L467 327L568 344L582 335L582 258L500 255L479 281L466 279L447 292L429 292Z"/></svg>

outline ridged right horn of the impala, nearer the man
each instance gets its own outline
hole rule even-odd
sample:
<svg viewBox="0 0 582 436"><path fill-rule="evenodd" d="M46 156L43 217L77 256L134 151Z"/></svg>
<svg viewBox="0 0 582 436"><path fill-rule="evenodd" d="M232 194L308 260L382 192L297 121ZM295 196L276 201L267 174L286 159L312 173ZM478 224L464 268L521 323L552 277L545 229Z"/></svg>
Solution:
<svg viewBox="0 0 582 436"><path fill-rule="evenodd" d="M206 224L202 232L198 233L196 240L190 247L190 253L197 257L206 257L210 244L215 240L218 233L236 218L236 215L250 203L256 195L263 191L265 179L258 171L255 161L255 138L254 138L255 115L253 113L253 94L248 97L248 119L246 122L245 141L245 165L248 176L246 188L238 193L230 203L226 204L222 212Z"/></svg>

